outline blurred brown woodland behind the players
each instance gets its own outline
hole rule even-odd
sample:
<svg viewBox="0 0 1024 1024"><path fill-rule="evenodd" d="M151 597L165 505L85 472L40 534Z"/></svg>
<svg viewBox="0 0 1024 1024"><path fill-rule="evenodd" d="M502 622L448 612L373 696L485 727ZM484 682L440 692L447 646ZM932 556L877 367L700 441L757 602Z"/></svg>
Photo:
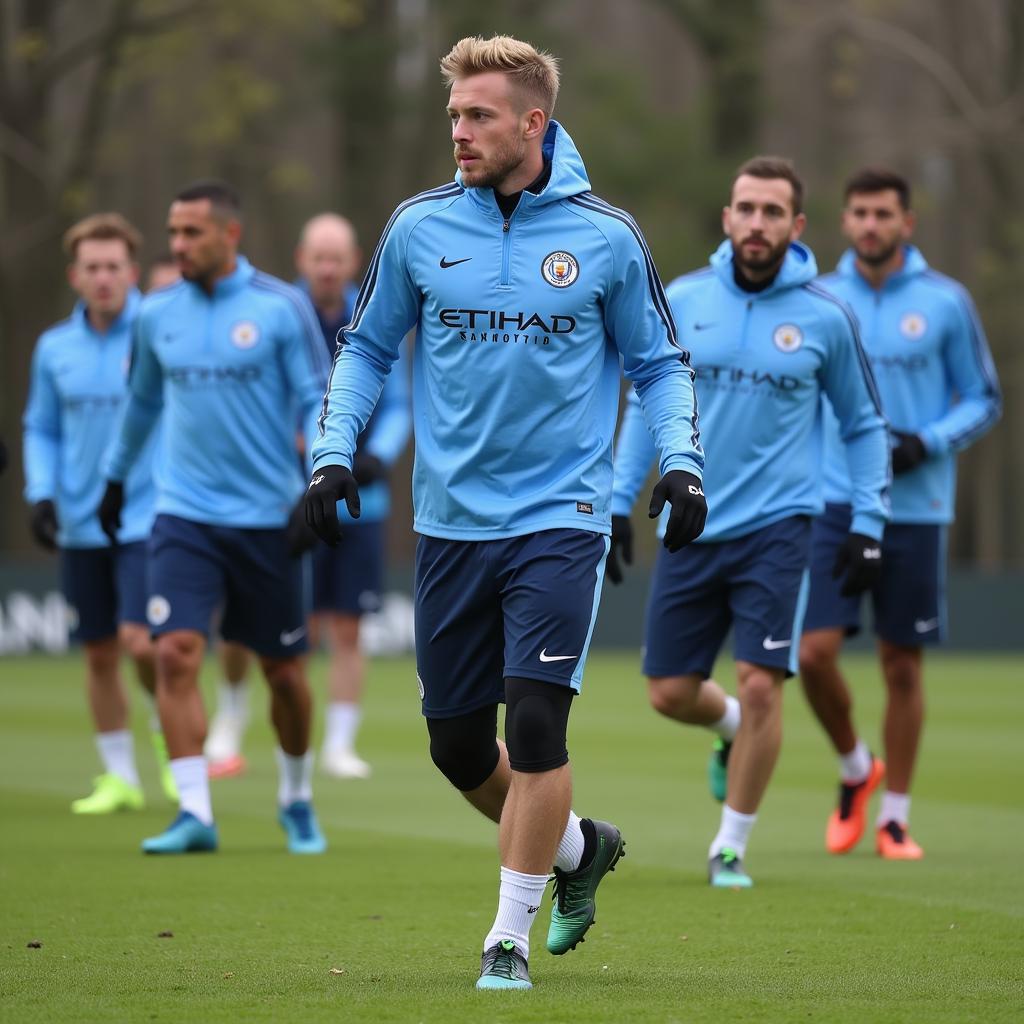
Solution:
<svg viewBox="0 0 1024 1024"><path fill-rule="evenodd" d="M0 548L30 547L20 416L36 337L73 302L63 229L119 210L145 265L176 188L216 175L242 191L262 268L292 278L299 227L326 209L369 258L398 202L454 174L438 57L496 32L561 58L555 116L666 282L707 260L755 153L796 160L823 270L844 178L865 163L910 177L916 241L974 294L1006 398L961 460L952 556L1024 565L1021 0L0 0Z"/></svg>

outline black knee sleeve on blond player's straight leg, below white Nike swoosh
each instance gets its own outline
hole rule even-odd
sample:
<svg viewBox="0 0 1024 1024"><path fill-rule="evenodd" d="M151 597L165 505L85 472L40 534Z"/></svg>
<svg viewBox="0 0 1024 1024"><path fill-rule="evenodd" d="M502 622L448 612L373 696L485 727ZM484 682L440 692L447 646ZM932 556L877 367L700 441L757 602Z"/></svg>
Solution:
<svg viewBox="0 0 1024 1024"><path fill-rule="evenodd" d="M505 745L514 771L552 771L568 764L565 730L572 695L557 683L505 680Z"/></svg>

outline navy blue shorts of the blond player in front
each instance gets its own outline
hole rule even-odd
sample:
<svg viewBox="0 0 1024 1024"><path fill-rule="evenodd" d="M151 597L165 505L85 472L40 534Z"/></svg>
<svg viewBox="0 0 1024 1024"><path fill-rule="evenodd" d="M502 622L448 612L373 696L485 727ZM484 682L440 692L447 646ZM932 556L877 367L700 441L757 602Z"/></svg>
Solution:
<svg viewBox="0 0 1024 1024"><path fill-rule="evenodd" d="M505 699L505 679L579 693L608 539L547 529L504 541L421 537L416 663L423 714L454 718Z"/></svg>

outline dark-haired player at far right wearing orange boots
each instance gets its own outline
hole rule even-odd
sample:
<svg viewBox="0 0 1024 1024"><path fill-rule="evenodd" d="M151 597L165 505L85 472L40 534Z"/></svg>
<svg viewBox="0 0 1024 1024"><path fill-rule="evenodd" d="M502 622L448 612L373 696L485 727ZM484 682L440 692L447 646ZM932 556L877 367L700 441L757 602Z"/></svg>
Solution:
<svg viewBox="0 0 1024 1024"><path fill-rule="evenodd" d="M811 601L800 648L804 692L840 759L839 806L825 847L846 853L859 842L871 792L888 775L876 833L883 856L918 860L907 833L910 780L924 723L924 648L945 633L946 526L953 518L956 453L999 418L995 368L974 303L957 282L930 269L909 244L910 186L892 171L865 168L847 182L843 233L850 249L821 285L860 321L882 408L892 425L892 525L882 575L870 589L879 660L886 684L885 762L853 724L839 668L846 636L860 628L860 600L828 572L850 521L850 476L827 406L825 514L812 538Z"/></svg>

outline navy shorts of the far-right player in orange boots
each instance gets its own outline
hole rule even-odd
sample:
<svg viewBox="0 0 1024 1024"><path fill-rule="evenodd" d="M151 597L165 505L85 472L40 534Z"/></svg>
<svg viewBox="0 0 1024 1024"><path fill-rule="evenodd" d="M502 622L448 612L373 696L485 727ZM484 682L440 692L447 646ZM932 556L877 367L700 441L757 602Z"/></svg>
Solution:
<svg viewBox="0 0 1024 1024"><path fill-rule="evenodd" d="M811 532L811 594L804 632L860 632L860 597L833 580L836 552L850 531L850 506L826 505ZM889 643L923 647L946 636L946 539L938 523L890 523L882 540L882 580L870 592L874 632Z"/></svg>

